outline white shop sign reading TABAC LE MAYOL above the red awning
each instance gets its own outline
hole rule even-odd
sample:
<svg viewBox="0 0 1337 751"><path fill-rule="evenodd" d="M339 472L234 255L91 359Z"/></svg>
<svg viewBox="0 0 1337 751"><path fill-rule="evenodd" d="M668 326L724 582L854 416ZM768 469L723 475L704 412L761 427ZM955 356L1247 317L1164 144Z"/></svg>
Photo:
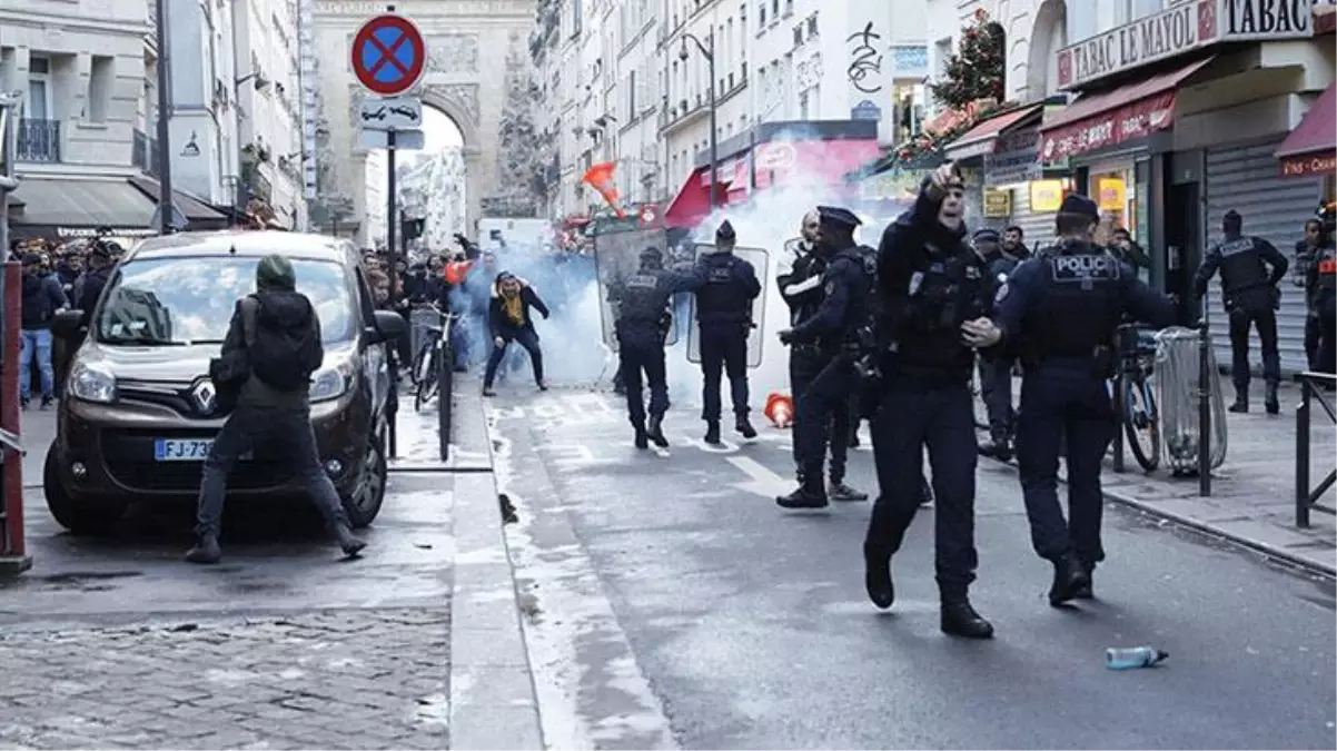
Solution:
<svg viewBox="0 0 1337 751"><path fill-rule="evenodd" d="M1182 0L1059 49L1059 88L1078 88L1222 41L1305 39L1314 33L1318 5L1337 5L1337 0Z"/></svg>

